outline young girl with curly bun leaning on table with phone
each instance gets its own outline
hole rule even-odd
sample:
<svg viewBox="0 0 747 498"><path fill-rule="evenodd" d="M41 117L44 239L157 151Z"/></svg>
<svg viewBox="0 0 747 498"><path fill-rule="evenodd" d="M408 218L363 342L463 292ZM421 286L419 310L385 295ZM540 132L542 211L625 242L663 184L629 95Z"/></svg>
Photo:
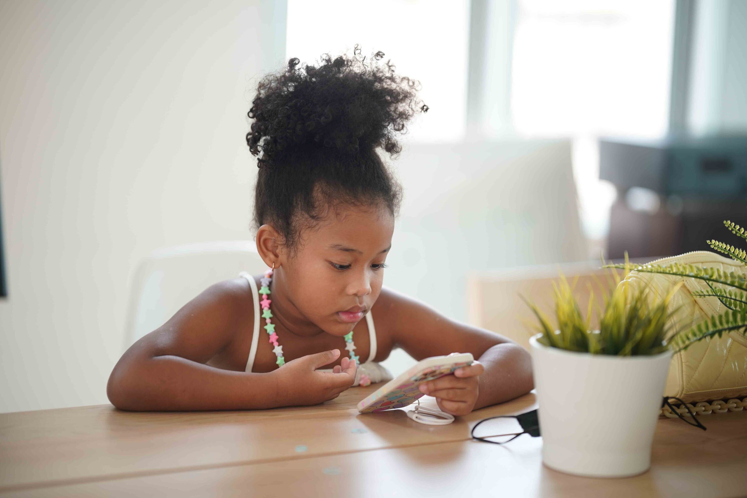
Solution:
<svg viewBox="0 0 747 498"><path fill-rule="evenodd" d="M293 58L259 82L247 144L259 166L257 249L270 270L208 287L134 343L109 378L117 408L316 405L390 380L378 362L395 347L417 360L479 359L421 387L453 415L532 389L520 346L382 287L401 187L376 151L397 155L393 132L427 106L417 81L379 66L382 52L359 55L356 46L351 58L302 68Z"/></svg>

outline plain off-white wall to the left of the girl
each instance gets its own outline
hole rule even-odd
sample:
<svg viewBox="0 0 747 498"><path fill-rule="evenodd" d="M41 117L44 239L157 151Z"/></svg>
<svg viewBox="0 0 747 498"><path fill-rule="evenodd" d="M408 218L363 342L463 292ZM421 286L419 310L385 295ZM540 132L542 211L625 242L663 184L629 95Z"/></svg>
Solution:
<svg viewBox="0 0 747 498"><path fill-rule="evenodd" d="M0 411L106 402L135 262L251 237L246 113L282 9L0 2Z"/></svg>

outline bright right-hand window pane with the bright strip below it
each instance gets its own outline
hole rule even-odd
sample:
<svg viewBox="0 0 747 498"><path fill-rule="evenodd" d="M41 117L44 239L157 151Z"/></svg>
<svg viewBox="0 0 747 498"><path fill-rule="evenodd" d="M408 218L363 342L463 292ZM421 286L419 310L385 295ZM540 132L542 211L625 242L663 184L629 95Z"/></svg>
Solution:
<svg viewBox="0 0 747 498"><path fill-rule="evenodd" d="M524 136L574 137L584 231L606 236L611 184L599 181L599 135L668 131L673 0L518 0L511 119Z"/></svg>

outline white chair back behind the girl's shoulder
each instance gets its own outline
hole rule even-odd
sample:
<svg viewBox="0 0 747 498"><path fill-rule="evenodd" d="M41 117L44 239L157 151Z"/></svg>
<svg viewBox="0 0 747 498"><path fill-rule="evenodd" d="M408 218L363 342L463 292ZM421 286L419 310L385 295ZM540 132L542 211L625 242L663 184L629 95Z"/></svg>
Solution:
<svg viewBox="0 0 747 498"><path fill-rule="evenodd" d="M207 287L267 270L253 240L192 243L158 249L134 272L125 317L125 349L158 329Z"/></svg>

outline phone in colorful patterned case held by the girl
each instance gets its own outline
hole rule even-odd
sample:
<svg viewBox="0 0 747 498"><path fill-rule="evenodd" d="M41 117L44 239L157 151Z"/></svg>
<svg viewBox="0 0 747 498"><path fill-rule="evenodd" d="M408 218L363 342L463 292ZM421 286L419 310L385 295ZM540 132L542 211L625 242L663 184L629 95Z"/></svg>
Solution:
<svg viewBox="0 0 747 498"><path fill-rule="evenodd" d="M438 377L447 376L460 367L471 365L474 361L471 353L452 353L447 356L433 356L418 361L418 364L407 370L397 378L387 382L370 396L358 403L358 411L362 414L372 411L402 408L415 399L423 396L418 386Z"/></svg>

